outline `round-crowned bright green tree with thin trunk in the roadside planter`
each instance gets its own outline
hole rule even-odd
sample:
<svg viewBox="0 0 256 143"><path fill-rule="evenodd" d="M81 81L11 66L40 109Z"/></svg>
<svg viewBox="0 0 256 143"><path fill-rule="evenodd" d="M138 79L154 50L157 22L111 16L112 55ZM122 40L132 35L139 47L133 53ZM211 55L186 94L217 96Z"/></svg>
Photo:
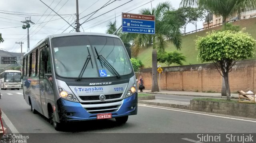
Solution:
<svg viewBox="0 0 256 143"><path fill-rule="evenodd" d="M212 62L224 78L227 100L230 100L228 73L238 60L253 56L254 45L255 40L242 31L213 31L196 40L198 59Z"/></svg>

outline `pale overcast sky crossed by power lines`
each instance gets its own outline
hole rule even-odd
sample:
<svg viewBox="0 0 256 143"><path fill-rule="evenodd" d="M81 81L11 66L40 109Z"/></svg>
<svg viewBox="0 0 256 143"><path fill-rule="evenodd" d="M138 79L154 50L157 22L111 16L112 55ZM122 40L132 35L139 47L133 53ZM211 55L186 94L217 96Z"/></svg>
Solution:
<svg viewBox="0 0 256 143"><path fill-rule="evenodd" d="M116 19L117 27L121 25L122 12L138 14L142 8L151 8L151 4L154 8L160 2L166 1L170 2L175 9L179 8L181 2L181 0L151 0L151 2L150 0L78 0L79 22L80 24L84 22L80 31L106 33L110 20L114 22ZM107 2L109 5L100 9ZM34 23L29 28L30 49L47 35L75 32L73 27L76 20L76 0L42 0L42 2L40 0L0 0L0 3L0 33L4 39L4 42L0 43L1 50L20 53L21 46L18 42L23 42L22 52L27 51L27 29L22 29L22 22L26 17L30 17ZM98 11L94 15L88 15L96 10ZM65 20L73 27L69 27ZM203 27L202 23L202 21L198 22L197 29ZM186 32L195 29L194 25L188 24Z"/></svg>

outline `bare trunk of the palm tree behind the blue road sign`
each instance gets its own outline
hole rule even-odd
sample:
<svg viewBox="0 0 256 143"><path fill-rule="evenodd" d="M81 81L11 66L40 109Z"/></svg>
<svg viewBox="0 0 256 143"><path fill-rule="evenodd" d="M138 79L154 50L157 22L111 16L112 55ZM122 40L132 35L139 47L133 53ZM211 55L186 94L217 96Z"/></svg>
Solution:
<svg viewBox="0 0 256 143"><path fill-rule="evenodd" d="M156 49L152 50L152 88L151 92L159 91L157 80L157 53Z"/></svg>

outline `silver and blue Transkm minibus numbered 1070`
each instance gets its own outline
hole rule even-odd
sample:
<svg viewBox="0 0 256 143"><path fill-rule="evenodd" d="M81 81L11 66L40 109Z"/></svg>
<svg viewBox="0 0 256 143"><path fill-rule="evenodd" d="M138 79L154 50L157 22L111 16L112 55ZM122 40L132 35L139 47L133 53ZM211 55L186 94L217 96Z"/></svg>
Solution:
<svg viewBox="0 0 256 143"><path fill-rule="evenodd" d="M42 39L23 59L24 99L32 112L62 123L136 115L130 58L116 35L64 33Z"/></svg>

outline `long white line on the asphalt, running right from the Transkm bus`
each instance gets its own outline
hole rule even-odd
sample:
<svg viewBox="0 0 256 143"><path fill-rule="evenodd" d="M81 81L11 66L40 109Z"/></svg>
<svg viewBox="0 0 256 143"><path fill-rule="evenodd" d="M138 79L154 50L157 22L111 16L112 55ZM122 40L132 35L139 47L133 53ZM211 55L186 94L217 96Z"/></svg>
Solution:
<svg viewBox="0 0 256 143"><path fill-rule="evenodd" d="M161 108L161 107L154 107L154 106L147 106L147 105L138 105L138 106L144 106L144 107L150 107L150 108L158 108L158 109L178 111L178 112L185 112L185 113L198 114L198 115L204 115L204 116L212 116L212 117L218 117L218 118L235 119L235 120L240 120L240 121L250 121L250 122L256 123L256 121L249 120L249 119L239 119L239 118L232 118L232 117L224 117L224 116L217 116L217 115L210 115L210 114L203 114L203 113L197 113L197 112L175 110L175 109L168 109L168 108Z"/></svg>

